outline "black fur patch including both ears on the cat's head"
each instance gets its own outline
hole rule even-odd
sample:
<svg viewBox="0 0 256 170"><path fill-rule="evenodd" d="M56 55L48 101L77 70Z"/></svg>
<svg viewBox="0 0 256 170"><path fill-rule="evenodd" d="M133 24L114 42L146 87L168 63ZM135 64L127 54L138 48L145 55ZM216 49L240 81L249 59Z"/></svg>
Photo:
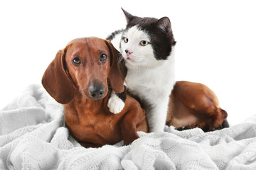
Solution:
<svg viewBox="0 0 256 170"><path fill-rule="evenodd" d="M148 33L156 60L167 60L167 57L171 55L171 47L176 44L169 18L141 18L138 16L132 16L132 14L128 13L123 8L122 10L124 11L124 16L127 19L126 29L137 26L140 30Z"/></svg>

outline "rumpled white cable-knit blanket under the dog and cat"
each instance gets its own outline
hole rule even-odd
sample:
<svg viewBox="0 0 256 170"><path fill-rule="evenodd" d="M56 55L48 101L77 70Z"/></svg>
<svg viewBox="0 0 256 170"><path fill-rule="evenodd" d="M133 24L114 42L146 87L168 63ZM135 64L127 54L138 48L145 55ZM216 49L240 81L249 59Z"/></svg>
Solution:
<svg viewBox="0 0 256 170"><path fill-rule="evenodd" d="M33 85L0 111L0 169L256 169L256 115L215 132L139 135L129 146L81 147L63 107Z"/></svg>

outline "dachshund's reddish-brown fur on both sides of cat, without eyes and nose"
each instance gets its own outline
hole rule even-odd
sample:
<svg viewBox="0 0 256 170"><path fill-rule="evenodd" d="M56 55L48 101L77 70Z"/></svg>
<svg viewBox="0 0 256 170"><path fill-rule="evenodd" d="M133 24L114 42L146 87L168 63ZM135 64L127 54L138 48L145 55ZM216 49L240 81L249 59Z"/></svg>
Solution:
<svg viewBox="0 0 256 170"><path fill-rule="evenodd" d="M105 53L106 62L100 62ZM80 57L82 64L72 60ZM71 135L84 147L101 147L124 140L136 140L137 131L148 132L145 111L127 94L121 113L110 113L107 100L109 86L117 93L124 91L124 74L119 71L117 50L108 40L78 38L59 50L43 74L42 84L59 103L63 103L65 121ZM105 91L94 100L90 86L101 84ZM166 125L178 130L202 128L205 132L228 127L228 114L218 106L218 98L207 86L177 81L170 95Z"/></svg>

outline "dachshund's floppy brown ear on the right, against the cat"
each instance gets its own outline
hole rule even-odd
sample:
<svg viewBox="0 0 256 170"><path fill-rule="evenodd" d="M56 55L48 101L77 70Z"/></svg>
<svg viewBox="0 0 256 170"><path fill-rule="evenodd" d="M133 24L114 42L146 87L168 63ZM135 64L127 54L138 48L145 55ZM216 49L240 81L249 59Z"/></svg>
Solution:
<svg viewBox="0 0 256 170"><path fill-rule="evenodd" d="M120 52L114 48L110 40L107 40L107 47L110 49L110 85L112 89L121 94L124 92L124 79L127 74L127 68L123 62L119 62L119 57L122 57Z"/></svg>

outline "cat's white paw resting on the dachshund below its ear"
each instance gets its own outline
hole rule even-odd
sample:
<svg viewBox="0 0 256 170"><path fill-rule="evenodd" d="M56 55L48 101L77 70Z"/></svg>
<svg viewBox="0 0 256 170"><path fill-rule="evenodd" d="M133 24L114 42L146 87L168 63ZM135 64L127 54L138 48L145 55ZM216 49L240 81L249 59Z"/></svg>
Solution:
<svg viewBox="0 0 256 170"><path fill-rule="evenodd" d="M124 101L122 101L117 95L112 95L107 101L107 107L110 108L110 112L117 114L124 108Z"/></svg>

